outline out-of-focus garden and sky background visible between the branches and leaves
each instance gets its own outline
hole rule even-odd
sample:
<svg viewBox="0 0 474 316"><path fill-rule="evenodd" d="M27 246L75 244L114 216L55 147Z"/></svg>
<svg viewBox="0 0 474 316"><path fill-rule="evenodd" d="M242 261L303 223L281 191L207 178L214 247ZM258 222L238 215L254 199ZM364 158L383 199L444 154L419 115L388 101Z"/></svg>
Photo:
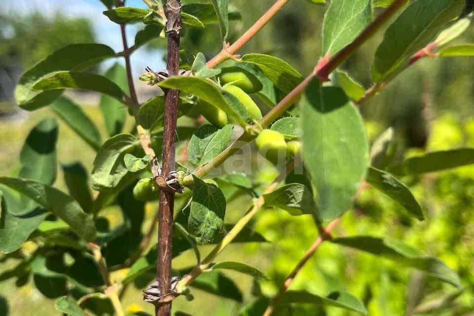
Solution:
<svg viewBox="0 0 474 316"><path fill-rule="evenodd" d="M190 1L187 1L190 2ZM272 0L231 0L242 19L231 22L230 40L243 33L272 3ZM140 0L127 0L127 6L145 8ZM36 112L20 110L14 103L13 89L21 74L29 67L69 43L101 42L115 51L122 50L119 26L102 14L99 0L2 0L0 11L0 173L13 175L19 169L19 152L29 131L40 120L54 116L47 107ZM304 0L290 1L281 12L241 51L268 53L282 58L301 74L309 74L320 57L320 31L323 5ZM143 26L127 28L133 39ZM216 54L221 44L217 26L204 31L190 31L182 39L182 47L191 54ZM370 84L369 69L378 34L360 49L345 65L354 78L366 87ZM473 27L459 43L474 42ZM165 67L165 41L156 40L132 55L133 74L139 98L147 100L157 90L138 80L146 66L154 70ZM104 72L113 63L104 62L92 71ZM80 104L84 112L100 127L106 139L104 121L94 93L69 91L68 96ZM124 109L126 111L126 109ZM366 103L362 109L368 134L373 140L387 127L395 130L397 158L423 151L474 147L474 58L425 58L402 73L390 85ZM61 163L80 160L91 168L95 153L58 118L60 133L58 159ZM124 130L133 127L129 117ZM273 177L273 170L260 170L255 176L262 183ZM461 276L464 293L439 315L474 315L474 166L466 166L438 174L405 178L422 204L427 220L417 222L404 216L401 206L374 190L366 190L348 212L335 234L387 236L405 240L421 251L435 255ZM59 170L56 186L66 190ZM242 195L229 203L229 223L235 222L252 203ZM147 207L153 214L156 204ZM112 223L119 221L113 208L104 215ZM149 223L148 223L149 224ZM148 225L147 223L145 225ZM252 264L279 285L306 249L316 238L316 230L308 217L290 217L284 212L262 211L252 223L255 230L265 232L271 240L264 244L231 246L222 259ZM28 247L27 244L25 247ZM31 246L31 245L30 245ZM204 250L205 251L205 250ZM175 267L194 263L192 254L178 257ZM14 266L13 261L0 263L1 269ZM120 276L118 271L117 277ZM243 293L243 301L252 300L252 280L234 277ZM424 300L455 292L456 289L414 270L400 268L394 262L355 251L324 244L296 278L293 288L327 294L340 287L364 300L369 315L412 315L410 309ZM262 290L274 293L276 285L262 283ZM188 303L179 298L177 309L192 315L232 315L241 304L195 291L196 299ZM32 281L17 287L15 280L0 282L0 315L53 315L54 301L44 298ZM141 302L140 289L130 288L124 307L151 307ZM9 313L9 314L7 314ZM295 315L324 315L317 308L302 306ZM298 314L300 313L300 314ZM58 313L59 315L59 313ZM352 315L330 309L328 315Z"/></svg>

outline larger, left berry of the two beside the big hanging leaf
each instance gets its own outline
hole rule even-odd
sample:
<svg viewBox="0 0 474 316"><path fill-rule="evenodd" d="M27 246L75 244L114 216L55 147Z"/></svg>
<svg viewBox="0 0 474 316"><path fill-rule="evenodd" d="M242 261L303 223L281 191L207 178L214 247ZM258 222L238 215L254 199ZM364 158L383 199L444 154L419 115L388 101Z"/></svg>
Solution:
<svg viewBox="0 0 474 316"><path fill-rule="evenodd" d="M288 146L283 135L277 131L262 130L255 143L259 152L275 165L278 163L278 159L286 157Z"/></svg>

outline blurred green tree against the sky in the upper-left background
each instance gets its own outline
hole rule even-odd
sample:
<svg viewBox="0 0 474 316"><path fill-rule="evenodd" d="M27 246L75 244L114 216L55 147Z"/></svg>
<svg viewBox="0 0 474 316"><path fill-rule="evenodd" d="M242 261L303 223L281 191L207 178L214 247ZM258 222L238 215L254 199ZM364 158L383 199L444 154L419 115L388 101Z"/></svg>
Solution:
<svg viewBox="0 0 474 316"><path fill-rule="evenodd" d="M86 18L60 12L53 17L0 13L0 68L29 68L67 44L93 41L92 23Z"/></svg>

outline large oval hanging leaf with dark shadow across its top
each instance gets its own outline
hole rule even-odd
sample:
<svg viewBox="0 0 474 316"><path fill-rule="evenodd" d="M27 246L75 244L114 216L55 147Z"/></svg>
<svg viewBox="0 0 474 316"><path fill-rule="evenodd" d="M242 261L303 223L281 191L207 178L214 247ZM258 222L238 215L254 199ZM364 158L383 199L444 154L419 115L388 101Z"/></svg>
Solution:
<svg viewBox="0 0 474 316"><path fill-rule="evenodd" d="M359 111L339 87L313 80L300 102L303 158L323 220L352 204L368 166L368 144Z"/></svg>

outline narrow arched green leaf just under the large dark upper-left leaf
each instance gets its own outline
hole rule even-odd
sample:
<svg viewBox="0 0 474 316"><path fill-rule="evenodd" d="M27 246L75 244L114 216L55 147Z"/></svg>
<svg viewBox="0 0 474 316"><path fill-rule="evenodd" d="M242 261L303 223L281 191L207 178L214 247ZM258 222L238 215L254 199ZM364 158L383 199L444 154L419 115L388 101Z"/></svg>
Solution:
<svg viewBox="0 0 474 316"><path fill-rule="evenodd" d="M63 71L51 77L40 79L33 85L33 91L65 88L84 89L104 93L124 103L123 99L125 94L122 89L106 77L95 74Z"/></svg>

